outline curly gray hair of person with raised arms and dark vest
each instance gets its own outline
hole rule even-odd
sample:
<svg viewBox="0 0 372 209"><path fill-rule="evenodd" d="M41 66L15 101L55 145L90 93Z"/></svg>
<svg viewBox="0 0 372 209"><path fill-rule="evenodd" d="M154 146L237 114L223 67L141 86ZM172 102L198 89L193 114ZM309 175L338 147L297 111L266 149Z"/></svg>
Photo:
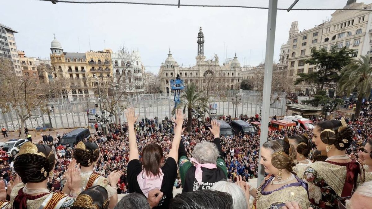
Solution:
<svg viewBox="0 0 372 209"><path fill-rule="evenodd" d="M214 163L216 164L218 158L217 146L211 142L202 141L195 145L192 151L192 157L200 164Z"/></svg>

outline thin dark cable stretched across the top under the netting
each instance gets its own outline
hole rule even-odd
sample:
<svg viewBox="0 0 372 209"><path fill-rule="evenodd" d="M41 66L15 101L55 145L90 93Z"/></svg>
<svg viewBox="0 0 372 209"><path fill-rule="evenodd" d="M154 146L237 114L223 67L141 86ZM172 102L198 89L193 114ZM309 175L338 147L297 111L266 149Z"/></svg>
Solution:
<svg viewBox="0 0 372 209"><path fill-rule="evenodd" d="M51 0L36 0L36 1L49 1ZM246 9L269 9L268 7L253 7L253 6L239 6L239 5L197 5L197 4L162 4L162 3L143 3L143 2L126 2L126 1L66 1L66 0L55 0L56 3L75 3L75 4L140 4L140 5L154 5L154 6L184 6L184 7L235 7L235 8L246 8ZM278 8L278 10L288 10L285 8ZM291 10L355 10L355 11L371 11L371 9L291 9Z"/></svg>

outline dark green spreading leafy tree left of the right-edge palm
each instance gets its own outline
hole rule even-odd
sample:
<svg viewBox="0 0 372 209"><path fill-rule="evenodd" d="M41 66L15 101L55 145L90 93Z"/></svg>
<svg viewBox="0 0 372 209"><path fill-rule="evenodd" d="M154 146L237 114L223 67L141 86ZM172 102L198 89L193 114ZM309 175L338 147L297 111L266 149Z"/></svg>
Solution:
<svg viewBox="0 0 372 209"><path fill-rule="evenodd" d="M314 83L316 86L316 92L323 90L326 84L337 83L340 78L340 72L344 66L350 63L352 58L350 55L353 53L353 49L343 47L338 49L334 47L329 52L321 48L311 49L311 58L305 60L305 63L315 65L315 69L312 73L299 73L299 78L296 79L295 85L305 82L308 84Z"/></svg>

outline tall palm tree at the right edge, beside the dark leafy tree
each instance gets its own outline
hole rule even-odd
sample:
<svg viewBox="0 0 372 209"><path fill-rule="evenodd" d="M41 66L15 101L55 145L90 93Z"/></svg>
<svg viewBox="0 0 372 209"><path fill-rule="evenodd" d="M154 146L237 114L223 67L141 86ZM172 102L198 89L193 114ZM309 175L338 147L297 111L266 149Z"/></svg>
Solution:
<svg viewBox="0 0 372 209"><path fill-rule="evenodd" d="M363 96L371 94L372 66L369 63L370 58L369 55L360 56L359 60L346 65L341 71L339 95L345 92L350 95L352 90L357 90L358 101L355 109L355 119L359 118Z"/></svg>

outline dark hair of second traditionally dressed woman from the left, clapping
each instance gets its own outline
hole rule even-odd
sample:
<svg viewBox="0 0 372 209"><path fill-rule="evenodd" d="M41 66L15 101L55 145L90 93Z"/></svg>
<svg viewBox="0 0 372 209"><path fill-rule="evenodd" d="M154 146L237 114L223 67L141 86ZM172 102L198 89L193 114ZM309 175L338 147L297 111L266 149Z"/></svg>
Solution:
<svg viewBox="0 0 372 209"><path fill-rule="evenodd" d="M89 167L99 158L99 148L95 142L79 142L84 143L85 149L77 146L74 149L74 158L81 166Z"/></svg>

